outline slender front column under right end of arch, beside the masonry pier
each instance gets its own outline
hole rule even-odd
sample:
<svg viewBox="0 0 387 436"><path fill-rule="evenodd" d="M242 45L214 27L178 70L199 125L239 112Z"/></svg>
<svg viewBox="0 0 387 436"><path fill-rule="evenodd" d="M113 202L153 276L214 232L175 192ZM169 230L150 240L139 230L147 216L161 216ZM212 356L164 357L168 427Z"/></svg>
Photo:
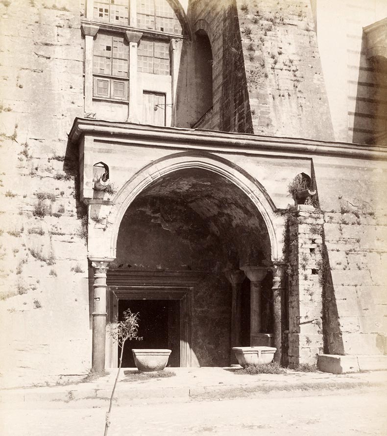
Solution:
<svg viewBox="0 0 387 436"><path fill-rule="evenodd" d="M274 361L281 362L282 354L282 300L285 292L285 262L274 262L273 272L273 313L274 313Z"/></svg>

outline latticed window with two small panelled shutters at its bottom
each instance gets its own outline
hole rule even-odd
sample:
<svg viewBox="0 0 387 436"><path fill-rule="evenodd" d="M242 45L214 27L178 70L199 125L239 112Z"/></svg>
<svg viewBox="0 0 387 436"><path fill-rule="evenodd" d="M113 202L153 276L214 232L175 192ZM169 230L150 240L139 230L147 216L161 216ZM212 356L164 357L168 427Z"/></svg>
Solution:
<svg viewBox="0 0 387 436"><path fill-rule="evenodd" d="M128 100L128 44L123 36L98 33L93 48L93 96Z"/></svg>

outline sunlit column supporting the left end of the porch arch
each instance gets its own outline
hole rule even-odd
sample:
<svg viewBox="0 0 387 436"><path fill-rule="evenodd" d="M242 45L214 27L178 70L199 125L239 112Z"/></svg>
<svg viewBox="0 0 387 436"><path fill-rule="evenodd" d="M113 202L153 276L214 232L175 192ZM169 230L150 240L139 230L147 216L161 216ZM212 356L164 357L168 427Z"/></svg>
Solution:
<svg viewBox="0 0 387 436"><path fill-rule="evenodd" d="M92 369L105 369L106 272L110 260L90 259L94 268Z"/></svg>

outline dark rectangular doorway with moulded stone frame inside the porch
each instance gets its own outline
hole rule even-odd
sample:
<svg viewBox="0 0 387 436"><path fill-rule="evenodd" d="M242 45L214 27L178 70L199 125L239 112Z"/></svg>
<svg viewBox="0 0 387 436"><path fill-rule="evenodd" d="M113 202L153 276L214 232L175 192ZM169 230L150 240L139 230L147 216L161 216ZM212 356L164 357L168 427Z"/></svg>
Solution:
<svg viewBox="0 0 387 436"><path fill-rule="evenodd" d="M125 344L123 367L134 366L133 348L169 348L169 366L191 366L192 291L202 273L195 271L125 271L107 274L108 323L122 319L127 308L140 313L139 336ZM118 345L107 335L106 361L118 366Z"/></svg>

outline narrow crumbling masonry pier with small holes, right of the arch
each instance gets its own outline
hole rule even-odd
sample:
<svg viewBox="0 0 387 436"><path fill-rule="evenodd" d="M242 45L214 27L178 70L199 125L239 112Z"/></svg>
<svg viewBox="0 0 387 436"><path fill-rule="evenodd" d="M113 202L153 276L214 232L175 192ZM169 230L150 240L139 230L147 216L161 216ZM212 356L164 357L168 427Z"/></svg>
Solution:
<svg viewBox="0 0 387 436"><path fill-rule="evenodd" d="M289 276L288 363L313 364L323 352L322 224L313 206L299 205L287 215Z"/></svg>

